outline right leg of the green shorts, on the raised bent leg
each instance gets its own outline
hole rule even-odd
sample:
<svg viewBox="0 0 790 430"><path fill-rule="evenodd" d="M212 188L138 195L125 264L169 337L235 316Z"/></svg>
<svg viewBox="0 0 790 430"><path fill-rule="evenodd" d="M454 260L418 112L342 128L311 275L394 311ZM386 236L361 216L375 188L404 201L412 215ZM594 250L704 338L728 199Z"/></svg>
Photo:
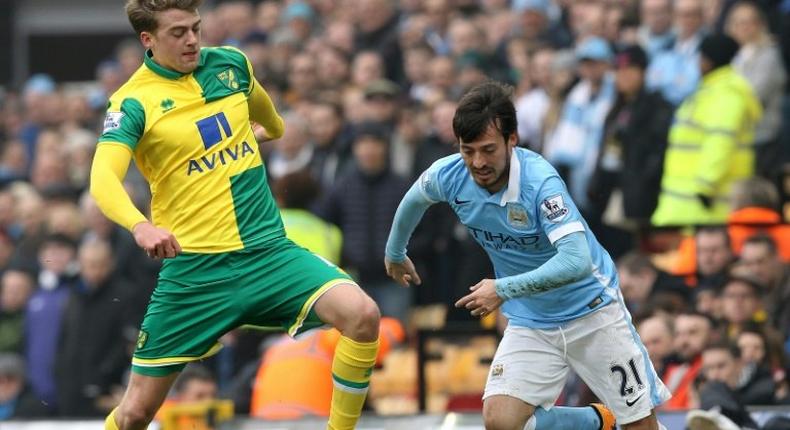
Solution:
<svg viewBox="0 0 790 430"><path fill-rule="evenodd" d="M238 297L243 323L291 336L327 323L315 312L318 299L333 287L354 283L339 267L287 239L245 253L234 265L243 270Z"/></svg>

